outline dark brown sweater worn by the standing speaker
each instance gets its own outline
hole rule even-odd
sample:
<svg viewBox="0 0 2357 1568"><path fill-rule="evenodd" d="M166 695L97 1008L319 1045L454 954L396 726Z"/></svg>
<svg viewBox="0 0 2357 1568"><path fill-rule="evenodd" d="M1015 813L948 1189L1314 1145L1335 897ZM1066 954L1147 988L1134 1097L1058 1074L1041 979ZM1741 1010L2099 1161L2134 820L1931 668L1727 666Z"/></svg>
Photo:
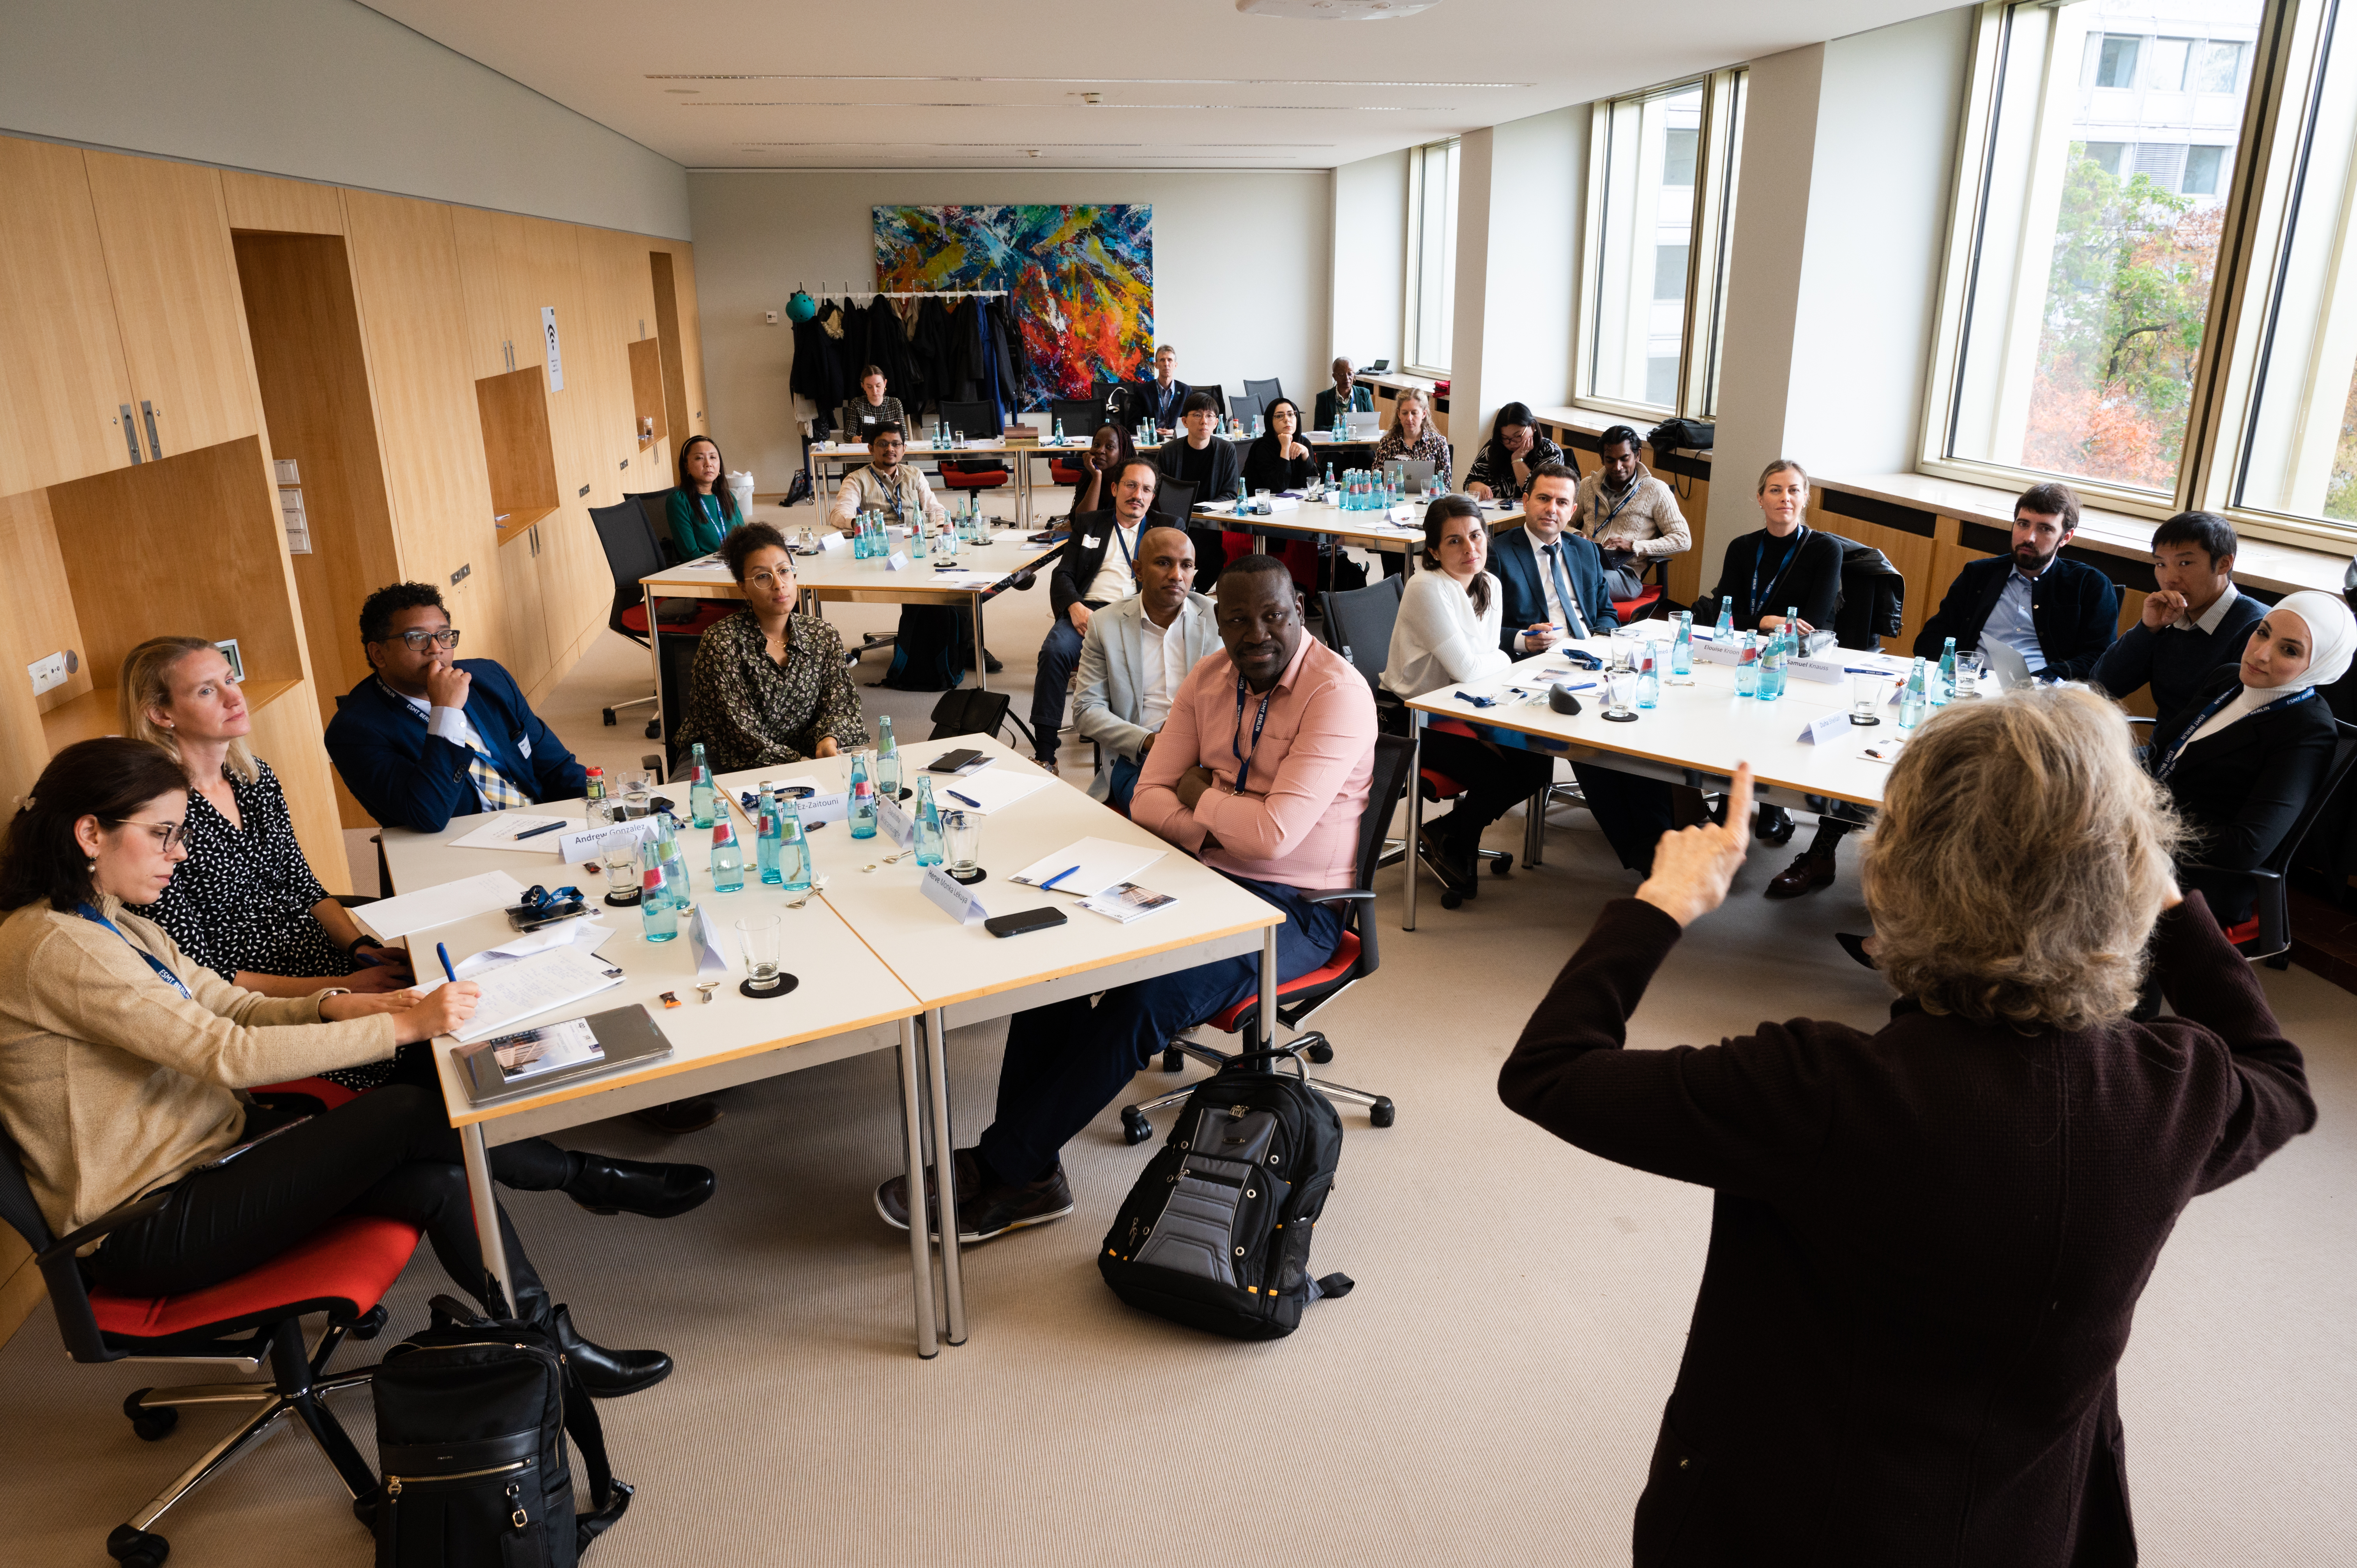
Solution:
<svg viewBox="0 0 2357 1568"><path fill-rule="evenodd" d="M2315 1125L2300 1052L2199 894L2159 1023L2020 1033L1895 1002L1626 1052L1678 941L1605 905L1499 1096L1716 1188L1636 1563L2133 1563L2114 1370L2178 1212Z"/></svg>

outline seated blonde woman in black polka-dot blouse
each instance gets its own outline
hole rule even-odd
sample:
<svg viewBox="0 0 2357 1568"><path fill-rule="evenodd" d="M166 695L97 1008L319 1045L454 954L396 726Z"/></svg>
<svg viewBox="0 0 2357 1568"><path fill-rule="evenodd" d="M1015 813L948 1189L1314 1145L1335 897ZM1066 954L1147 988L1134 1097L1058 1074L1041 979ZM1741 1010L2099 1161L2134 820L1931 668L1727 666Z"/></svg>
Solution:
<svg viewBox="0 0 2357 1568"><path fill-rule="evenodd" d="M342 988L387 1012L405 1007L408 960L361 931L311 875L278 776L245 743L255 719L222 651L203 637L151 637L123 660L118 698L123 733L160 745L189 776L189 858L137 913L240 990ZM372 1089L389 1070L370 1063L335 1080Z"/></svg>

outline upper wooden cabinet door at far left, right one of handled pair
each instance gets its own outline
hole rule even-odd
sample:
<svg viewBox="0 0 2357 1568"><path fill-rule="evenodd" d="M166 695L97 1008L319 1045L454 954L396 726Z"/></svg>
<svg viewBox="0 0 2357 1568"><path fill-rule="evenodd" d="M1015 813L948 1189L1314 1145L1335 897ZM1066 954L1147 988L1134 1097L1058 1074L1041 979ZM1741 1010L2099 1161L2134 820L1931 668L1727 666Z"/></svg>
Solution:
<svg viewBox="0 0 2357 1568"><path fill-rule="evenodd" d="M148 457L259 434L219 170L120 153L82 158Z"/></svg>

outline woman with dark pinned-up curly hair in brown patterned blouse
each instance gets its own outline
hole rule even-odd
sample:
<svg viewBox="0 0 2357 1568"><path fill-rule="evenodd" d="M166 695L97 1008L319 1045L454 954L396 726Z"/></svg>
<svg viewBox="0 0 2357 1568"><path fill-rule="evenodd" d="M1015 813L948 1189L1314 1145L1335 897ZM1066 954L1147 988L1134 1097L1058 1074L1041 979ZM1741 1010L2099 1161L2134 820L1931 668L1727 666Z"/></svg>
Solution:
<svg viewBox="0 0 2357 1568"><path fill-rule="evenodd" d="M695 648L679 745L700 740L714 773L867 745L844 639L825 620L794 613L801 587L785 535L745 523L721 545L721 559L745 589L745 608Z"/></svg>

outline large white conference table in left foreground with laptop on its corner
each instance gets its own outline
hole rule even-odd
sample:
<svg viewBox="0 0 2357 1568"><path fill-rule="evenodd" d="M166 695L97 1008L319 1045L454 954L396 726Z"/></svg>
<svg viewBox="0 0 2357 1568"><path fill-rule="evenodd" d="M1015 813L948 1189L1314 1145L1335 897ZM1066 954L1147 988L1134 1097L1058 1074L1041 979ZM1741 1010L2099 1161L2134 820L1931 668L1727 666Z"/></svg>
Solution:
<svg viewBox="0 0 2357 1568"><path fill-rule="evenodd" d="M900 1125L905 1141L903 1172L912 1195L910 1212L926 1214L926 1139L933 1148L940 1212L957 1212L950 1122L950 1087L945 1035L950 1028L1002 1019L1025 1007L1044 1007L1068 997L1094 995L1174 974L1221 957L1261 955L1261 1037L1275 1033L1275 946L1285 915L1254 898L1193 856L1171 849L1129 818L1087 797L1087 792L1049 776L1030 759L988 736L907 743L900 747L907 806L915 806L915 776L929 762L969 747L985 752L983 769L995 776L1037 780L1021 799L983 813L978 865L983 879L971 889L988 915L1056 905L1065 924L1025 936L997 938L983 924L962 924L922 891L924 872L915 856L879 832L853 839L844 821L820 823L808 832L816 875L823 887L799 908L778 887L764 887L747 865L747 884L738 894L709 887L712 832L684 825L681 854L695 894L695 908L707 910L719 934L719 974L698 974L686 936L648 943L634 908L603 908L603 872L594 865L563 865L559 851L460 849L455 839L483 828L490 816L453 818L441 832L422 835L403 828L384 830L384 858L396 891L417 891L504 870L519 882L577 884L592 898L592 915L615 931L596 946L596 957L622 969L622 981L594 997L552 1009L552 1019L582 1016L613 1007L646 1007L672 1042L669 1056L646 1066L618 1068L556 1085L540 1094L500 1099L476 1106L460 1082L450 1052L455 1040L434 1042L443 1103L460 1132L467 1186L474 1198L476 1228L483 1238L483 1264L509 1283L504 1250L493 1224L490 1146L540 1137L582 1122L660 1106L693 1094L709 1094L742 1082L792 1073L827 1061L841 1061L872 1049L898 1047ZM752 861L752 823L740 792L759 790L761 780L804 783L823 795L849 785L851 757L806 759L721 776L721 795L731 802L738 837ZM957 778L933 776L943 809L957 809L948 790ZM674 783L674 797L684 790ZM684 802L681 802L684 804ZM535 816L563 816L580 825L585 802L549 802L530 806ZM547 839L563 839L568 830ZM1080 839L1110 839L1153 851L1136 879L1176 903L1122 924L1075 908L1077 896L1037 891L1011 882L1014 872L1068 849ZM742 950L733 922L747 913L778 913L783 920L785 969L799 979L783 997L757 1000L738 993L745 976ZM483 953L514 936L500 910L474 915L408 936L420 974L436 969L434 946L445 943L453 960ZM698 979L719 981L700 1000ZM676 1004L667 1004L669 993ZM530 1019L549 1021L549 1019ZM922 1049L919 1049L922 1042ZM910 1226L910 1269L915 1290L917 1353L933 1356L938 1337L966 1342L964 1278L955 1245L940 1250L940 1318L933 1302L933 1259L924 1224Z"/></svg>

